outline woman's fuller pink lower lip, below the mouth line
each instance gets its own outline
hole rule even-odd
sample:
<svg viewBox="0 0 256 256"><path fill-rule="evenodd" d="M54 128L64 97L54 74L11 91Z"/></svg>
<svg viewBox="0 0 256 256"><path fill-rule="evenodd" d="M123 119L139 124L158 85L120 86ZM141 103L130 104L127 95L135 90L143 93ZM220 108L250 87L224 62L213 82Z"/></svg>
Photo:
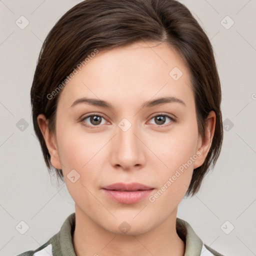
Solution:
<svg viewBox="0 0 256 256"><path fill-rule="evenodd" d="M136 203L148 196L153 189L136 190L136 191L117 191L104 189L106 194L116 202L121 203Z"/></svg>

